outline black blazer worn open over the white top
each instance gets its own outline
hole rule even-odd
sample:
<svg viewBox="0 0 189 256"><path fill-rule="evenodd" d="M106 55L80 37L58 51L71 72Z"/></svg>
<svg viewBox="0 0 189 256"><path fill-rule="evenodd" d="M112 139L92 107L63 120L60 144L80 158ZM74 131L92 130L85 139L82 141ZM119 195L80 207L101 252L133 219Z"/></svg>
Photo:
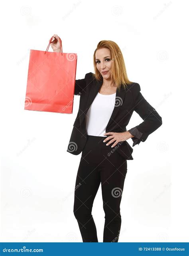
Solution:
<svg viewBox="0 0 189 256"><path fill-rule="evenodd" d="M87 141L87 131L85 128L85 116L93 103L103 79L98 81L93 77L93 73L87 73L84 79L75 80L75 95L80 95L79 111L73 124L71 138L67 148L67 152L73 155L79 155ZM136 111L143 119L143 122L137 125L138 131L142 133L139 140L146 141L150 133L153 133L162 125L162 119L158 112L152 107L143 95L140 93L140 85L132 83L120 91L116 90L116 101L112 115L106 126L107 132L124 132L128 125L133 111ZM134 137L132 137L133 139ZM127 141L119 142L115 147L112 147L112 152L117 150L122 157L127 160L133 160L133 149Z"/></svg>

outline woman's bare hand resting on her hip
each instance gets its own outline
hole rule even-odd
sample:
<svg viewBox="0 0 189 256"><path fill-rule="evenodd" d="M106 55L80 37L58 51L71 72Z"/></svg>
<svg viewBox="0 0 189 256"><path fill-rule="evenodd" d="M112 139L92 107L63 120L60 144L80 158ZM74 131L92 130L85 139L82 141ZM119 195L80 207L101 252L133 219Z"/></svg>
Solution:
<svg viewBox="0 0 189 256"><path fill-rule="evenodd" d="M124 131L123 133L114 133L114 132L109 132L109 133L104 133L104 135L110 135L106 139L104 139L104 143L108 140L108 143L106 144L107 146L110 145L111 143L114 142L114 144L111 147L115 147L115 145L118 144L120 141L126 141L127 139L130 138L130 133L128 131Z"/></svg>

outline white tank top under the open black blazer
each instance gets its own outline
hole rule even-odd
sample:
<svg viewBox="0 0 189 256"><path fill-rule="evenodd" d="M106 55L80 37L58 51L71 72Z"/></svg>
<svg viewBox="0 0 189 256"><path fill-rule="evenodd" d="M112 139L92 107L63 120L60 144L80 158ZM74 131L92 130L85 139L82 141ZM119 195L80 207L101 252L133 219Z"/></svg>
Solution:
<svg viewBox="0 0 189 256"><path fill-rule="evenodd" d="M116 92L110 95L97 93L87 111L85 125L87 135L106 137L106 126L115 106Z"/></svg>

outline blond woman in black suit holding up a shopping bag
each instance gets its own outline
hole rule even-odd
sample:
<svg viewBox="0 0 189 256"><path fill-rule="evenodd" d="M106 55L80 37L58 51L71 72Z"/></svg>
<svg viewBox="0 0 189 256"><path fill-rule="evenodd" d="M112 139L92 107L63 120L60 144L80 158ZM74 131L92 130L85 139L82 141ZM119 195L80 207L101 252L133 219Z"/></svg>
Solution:
<svg viewBox="0 0 189 256"><path fill-rule="evenodd" d="M60 52L56 34L53 41L53 51ZM122 52L115 42L99 42L93 61L95 74L87 73L75 82L80 103L67 151L73 155L82 151L82 155L75 183L74 215L83 242L98 242L91 212L101 183L103 242L118 242L127 160L133 159L133 149L126 140L132 138L133 147L146 141L162 119L140 93L140 85L129 81ZM144 121L126 131L133 111Z"/></svg>

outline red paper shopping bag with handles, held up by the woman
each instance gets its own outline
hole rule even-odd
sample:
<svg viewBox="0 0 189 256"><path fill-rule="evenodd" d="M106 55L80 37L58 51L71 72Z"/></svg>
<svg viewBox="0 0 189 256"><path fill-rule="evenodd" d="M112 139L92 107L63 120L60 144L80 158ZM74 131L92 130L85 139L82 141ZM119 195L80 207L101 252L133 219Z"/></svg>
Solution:
<svg viewBox="0 0 189 256"><path fill-rule="evenodd" d="M72 113L77 54L30 50L25 107L27 110Z"/></svg>

